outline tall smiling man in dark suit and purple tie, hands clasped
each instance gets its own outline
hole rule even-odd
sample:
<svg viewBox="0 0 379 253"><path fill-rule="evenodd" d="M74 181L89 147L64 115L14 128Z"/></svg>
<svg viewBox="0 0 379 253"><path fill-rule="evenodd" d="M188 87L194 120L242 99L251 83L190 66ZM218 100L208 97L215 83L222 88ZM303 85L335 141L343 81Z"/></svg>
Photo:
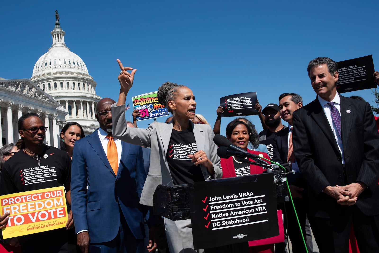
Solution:
<svg viewBox="0 0 379 253"><path fill-rule="evenodd" d="M320 253L348 252L351 223L360 251L379 252L379 134L368 103L337 93L337 70L330 58L310 61L317 97L293 114L309 222Z"/></svg>

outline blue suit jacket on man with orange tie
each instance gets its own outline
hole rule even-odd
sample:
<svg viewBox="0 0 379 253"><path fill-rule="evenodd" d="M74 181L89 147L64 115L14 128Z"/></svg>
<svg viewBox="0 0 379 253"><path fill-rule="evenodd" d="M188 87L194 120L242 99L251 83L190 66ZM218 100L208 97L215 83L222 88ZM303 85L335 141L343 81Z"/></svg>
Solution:
<svg viewBox="0 0 379 253"><path fill-rule="evenodd" d="M133 235L143 239L147 207L139 204L139 198L145 180L140 146L122 142L115 175L97 131L75 142L71 170L75 232L88 230L91 243L111 241L119 232L121 209Z"/></svg>

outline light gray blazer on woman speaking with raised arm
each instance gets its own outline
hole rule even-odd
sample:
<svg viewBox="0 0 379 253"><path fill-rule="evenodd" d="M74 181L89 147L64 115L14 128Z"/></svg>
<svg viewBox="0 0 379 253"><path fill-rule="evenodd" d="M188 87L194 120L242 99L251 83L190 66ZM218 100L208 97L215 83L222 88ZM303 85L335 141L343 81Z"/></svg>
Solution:
<svg viewBox="0 0 379 253"><path fill-rule="evenodd" d="M172 123L154 122L148 128L127 127L125 120L125 105L112 105L113 136L130 144L151 148L150 169L142 190L139 203L153 206L153 194L159 184L172 186L172 177L168 167L166 153L171 138ZM215 178L221 178L222 170L217 146L213 142L213 133L209 125L190 123L196 140L197 150L203 150L213 163ZM204 179L212 179L207 167L200 165Z"/></svg>

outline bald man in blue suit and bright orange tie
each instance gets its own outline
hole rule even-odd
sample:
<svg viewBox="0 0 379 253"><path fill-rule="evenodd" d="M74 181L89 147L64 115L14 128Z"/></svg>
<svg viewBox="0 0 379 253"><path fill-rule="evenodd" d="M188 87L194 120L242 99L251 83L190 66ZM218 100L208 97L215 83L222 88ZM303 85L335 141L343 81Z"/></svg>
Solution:
<svg viewBox="0 0 379 253"><path fill-rule="evenodd" d="M146 180L143 152L140 146L113 138L113 103L111 98L97 103L100 128L74 146L71 208L83 252L143 250L148 210L139 204Z"/></svg>

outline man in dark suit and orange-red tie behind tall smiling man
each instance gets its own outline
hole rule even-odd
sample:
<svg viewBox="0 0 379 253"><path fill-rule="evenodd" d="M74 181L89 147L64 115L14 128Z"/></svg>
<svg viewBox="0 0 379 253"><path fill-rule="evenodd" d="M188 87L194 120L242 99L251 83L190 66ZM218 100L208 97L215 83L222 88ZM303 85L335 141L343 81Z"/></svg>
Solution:
<svg viewBox="0 0 379 253"><path fill-rule="evenodd" d="M310 234L309 223L306 222L304 200L302 199L305 184L304 180L299 175L299 167L295 162L291 136L293 132L293 112L301 108L302 105L303 99L296 93L283 93L279 96L280 117L288 123L288 128L279 131L273 138L273 161L278 162L279 164L291 162L291 169L296 172L295 174L288 175L287 180L290 186L291 196L299 218L304 240L306 240L308 251L313 252L312 236ZM296 214L292 206L292 201L289 201L284 205L278 206L278 208L283 209L283 213L286 216L285 228L287 229L287 234L291 239L292 252L305 253L307 250L302 240L303 237L299 229L298 220L296 219ZM306 230L308 231L308 236ZM279 250L279 248L281 248L281 250ZM285 245L283 247L283 245L277 244L276 252L285 252Z"/></svg>

